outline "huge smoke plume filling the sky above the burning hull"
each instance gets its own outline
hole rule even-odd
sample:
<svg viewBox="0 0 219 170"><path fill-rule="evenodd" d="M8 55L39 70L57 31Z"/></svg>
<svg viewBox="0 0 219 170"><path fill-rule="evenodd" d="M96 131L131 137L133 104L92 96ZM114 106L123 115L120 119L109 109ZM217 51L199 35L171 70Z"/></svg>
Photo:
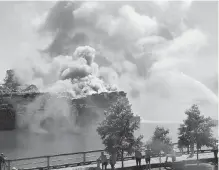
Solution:
<svg viewBox="0 0 219 170"><path fill-rule="evenodd" d="M27 57L16 60L23 83L72 97L115 90L116 84L149 122L182 121L194 103L217 118L214 3L40 3L31 6L35 31L25 30L32 35L22 46Z"/></svg>

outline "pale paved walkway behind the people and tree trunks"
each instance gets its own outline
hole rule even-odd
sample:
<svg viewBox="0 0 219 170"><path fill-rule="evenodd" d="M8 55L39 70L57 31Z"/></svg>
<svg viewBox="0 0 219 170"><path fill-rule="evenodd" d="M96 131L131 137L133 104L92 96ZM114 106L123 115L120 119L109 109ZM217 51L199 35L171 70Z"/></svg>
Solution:
<svg viewBox="0 0 219 170"><path fill-rule="evenodd" d="M213 158L213 157L214 157L213 153L200 153L199 154L199 159ZM161 158L162 163L165 162L165 160L166 160L166 157ZM194 155L192 158L188 158L188 155L182 155L180 157L176 157L176 162L183 161L183 160L196 160L196 155ZM169 158L169 161L171 161L171 158ZM159 158L152 158L151 164L154 164L154 163L159 163ZM135 165L136 165L135 160L124 161L124 167L131 167ZM145 165L144 159L142 159L142 165ZM116 163L115 168L121 168L121 166L122 166L121 161L119 161ZM97 167L97 165L92 164L92 165L80 166L80 167L63 168L63 170L86 170L89 167ZM110 165L108 165L108 168L110 168Z"/></svg>

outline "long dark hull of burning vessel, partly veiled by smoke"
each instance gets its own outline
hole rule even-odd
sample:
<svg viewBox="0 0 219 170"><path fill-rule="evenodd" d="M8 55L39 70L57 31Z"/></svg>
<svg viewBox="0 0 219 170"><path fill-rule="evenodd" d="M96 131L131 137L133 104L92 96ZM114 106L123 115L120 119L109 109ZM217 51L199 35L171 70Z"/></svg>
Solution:
<svg viewBox="0 0 219 170"><path fill-rule="evenodd" d="M48 128L52 128L53 123L56 121L55 119L57 119L59 123L63 121L66 125L66 122L64 121L66 115L61 113L62 110L60 110L60 116L63 117L56 117L56 115L52 114L45 114L42 116L46 111L45 109L47 109L48 100L54 101L54 99L57 102L64 101L68 103L70 106L68 109L70 110L66 111L68 112L66 118L72 119L71 123L74 124L74 126L84 127L91 124L92 121L96 122L103 118L104 110L106 110L112 102L116 101L118 97L126 97L126 93L123 91L102 92L75 99L65 96L55 96L50 93L2 94L0 102L0 130L30 128L36 121L38 121L40 128L49 130ZM28 113L27 106L38 98L41 98L41 100L44 98L44 101L42 101L44 103L42 103L41 107L37 108L37 110L34 110L35 113ZM42 117L39 118L40 116ZM29 117L28 120L32 119L32 121L28 121L27 117ZM38 117L38 120L36 120L36 117Z"/></svg>

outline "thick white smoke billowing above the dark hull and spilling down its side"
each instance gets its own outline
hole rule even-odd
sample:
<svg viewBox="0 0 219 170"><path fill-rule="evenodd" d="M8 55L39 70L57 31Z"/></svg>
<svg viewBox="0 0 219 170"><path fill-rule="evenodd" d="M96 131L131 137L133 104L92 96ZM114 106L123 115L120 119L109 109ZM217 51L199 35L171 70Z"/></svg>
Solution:
<svg viewBox="0 0 219 170"><path fill-rule="evenodd" d="M78 113L75 106L72 106L71 99L117 90L116 86L106 84L99 78L99 68L93 61L94 58L95 49L80 46L72 56L57 56L44 63L49 68L46 73L39 74L38 68L34 68L33 73L38 73L38 79L42 82L40 92L50 95L43 94L25 108L19 108L18 127L26 127L37 133L48 131L57 133L62 130L76 132ZM20 77L22 68L16 71ZM49 82L48 77L50 77ZM36 82L34 76L31 78L33 79L29 80L30 82Z"/></svg>

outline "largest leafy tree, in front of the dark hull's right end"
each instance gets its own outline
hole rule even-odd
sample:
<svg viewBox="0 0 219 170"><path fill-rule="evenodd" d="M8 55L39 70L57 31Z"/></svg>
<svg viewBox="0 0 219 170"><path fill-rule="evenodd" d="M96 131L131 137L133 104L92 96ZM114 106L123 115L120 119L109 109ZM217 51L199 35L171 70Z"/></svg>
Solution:
<svg viewBox="0 0 219 170"><path fill-rule="evenodd" d="M134 132L140 127L140 118L134 116L131 105L125 97L118 98L105 112L105 119L97 128L98 134L103 140L107 153L117 153L122 159L124 167L124 153L131 155L135 148L142 146L142 138L134 136Z"/></svg>

